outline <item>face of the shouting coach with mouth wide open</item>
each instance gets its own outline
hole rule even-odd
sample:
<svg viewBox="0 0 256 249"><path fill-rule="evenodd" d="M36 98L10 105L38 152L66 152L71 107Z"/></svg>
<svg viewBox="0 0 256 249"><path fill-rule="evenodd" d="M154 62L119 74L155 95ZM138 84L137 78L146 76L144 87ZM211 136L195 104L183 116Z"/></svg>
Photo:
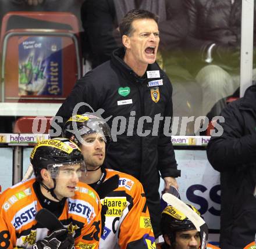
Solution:
<svg viewBox="0 0 256 249"><path fill-rule="evenodd" d="M159 45L158 24L153 19L138 19L131 26L133 33L127 38L126 53L134 65L154 63Z"/></svg>

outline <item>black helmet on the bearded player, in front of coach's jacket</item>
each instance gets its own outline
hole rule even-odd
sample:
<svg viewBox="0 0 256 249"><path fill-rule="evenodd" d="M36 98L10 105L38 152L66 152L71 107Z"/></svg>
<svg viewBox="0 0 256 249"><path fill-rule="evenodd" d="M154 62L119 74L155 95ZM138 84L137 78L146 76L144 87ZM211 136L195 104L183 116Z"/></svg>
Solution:
<svg viewBox="0 0 256 249"><path fill-rule="evenodd" d="M62 137L72 140L77 145L83 143L82 136L91 133L101 134L106 144L112 140L111 129L104 119L87 113L69 118L62 129Z"/></svg>

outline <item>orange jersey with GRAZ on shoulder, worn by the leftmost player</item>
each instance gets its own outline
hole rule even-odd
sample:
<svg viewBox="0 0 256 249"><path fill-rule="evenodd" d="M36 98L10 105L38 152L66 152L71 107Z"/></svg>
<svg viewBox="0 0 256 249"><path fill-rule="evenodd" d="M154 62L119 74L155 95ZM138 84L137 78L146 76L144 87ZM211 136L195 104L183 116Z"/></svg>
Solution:
<svg viewBox="0 0 256 249"><path fill-rule="evenodd" d="M0 196L0 248L32 248L47 236L35 215L42 205L34 188L35 179L18 183ZM78 183L73 197L63 203L58 219L72 234L76 248L98 248L101 234L101 204L86 183Z"/></svg>

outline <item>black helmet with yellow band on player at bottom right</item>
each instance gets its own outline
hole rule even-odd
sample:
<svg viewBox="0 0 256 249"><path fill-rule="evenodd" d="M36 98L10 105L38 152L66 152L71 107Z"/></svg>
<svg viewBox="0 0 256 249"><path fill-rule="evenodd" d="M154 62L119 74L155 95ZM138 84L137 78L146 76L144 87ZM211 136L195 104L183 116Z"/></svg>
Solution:
<svg viewBox="0 0 256 249"><path fill-rule="evenodd" d="M190 205L190 204L187 204L187 205L199 216L201 216L200 212L195 207L193 207L193 205ZM161 217L162 234L166 234L172 243L175 242L175 232L194 230L194 229L195 229L195 226L190 221L190 219L188 219L186 215L184 215L179 210L176 210L176 208L172 207L171 205L168 205L162 211L162 217Z"/></svg>

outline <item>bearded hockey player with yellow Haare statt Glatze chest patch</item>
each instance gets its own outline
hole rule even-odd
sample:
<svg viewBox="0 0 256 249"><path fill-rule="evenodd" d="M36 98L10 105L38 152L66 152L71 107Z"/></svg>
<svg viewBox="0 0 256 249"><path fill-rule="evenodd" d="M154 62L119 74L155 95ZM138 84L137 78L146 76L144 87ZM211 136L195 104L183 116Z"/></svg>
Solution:
<svg viewBox="0 0 256 249"><path fill-rule="evenodd" d="M99 248L154 249L154 233L143 186L131 175L102 166L105 147L111 140L108 124L95 116L76 115L66 122L62 135L73 139L83 153L87 175L81 176L80 181L93 187L101 197L101 203L108 207ZM106 182L115 175L119 176L117 188L109 193Z"/></svg>

